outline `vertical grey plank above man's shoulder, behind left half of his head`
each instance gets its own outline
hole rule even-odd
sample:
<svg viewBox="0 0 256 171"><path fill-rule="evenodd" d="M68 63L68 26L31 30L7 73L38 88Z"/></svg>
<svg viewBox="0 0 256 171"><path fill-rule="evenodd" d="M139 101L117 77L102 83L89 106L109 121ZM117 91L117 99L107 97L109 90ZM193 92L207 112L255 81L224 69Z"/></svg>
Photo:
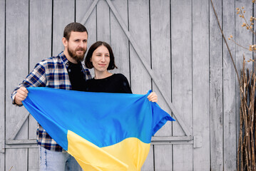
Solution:
<svg viewBox="0 0 256 171"><path fill-rule="evenodd" d="M65 26L75 21L75 0L53 1L53 56L64 51L62 43Z"/></svg>

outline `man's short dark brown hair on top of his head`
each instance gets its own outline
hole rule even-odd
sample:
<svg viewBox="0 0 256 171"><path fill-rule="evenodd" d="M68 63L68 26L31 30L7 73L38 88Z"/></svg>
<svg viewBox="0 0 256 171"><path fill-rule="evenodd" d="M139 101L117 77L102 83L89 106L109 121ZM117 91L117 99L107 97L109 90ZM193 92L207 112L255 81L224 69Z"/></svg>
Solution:
<svg viewBox="0 0 256 171"><path fill-rule="evenodd" d="M83 24L73 22L71 24L68 24L63 31L63 37L66 38L67 41L69 41L69 37L71 35L71 31L78 31L78 32L84 32L88 34L88 31Z"/></svg>

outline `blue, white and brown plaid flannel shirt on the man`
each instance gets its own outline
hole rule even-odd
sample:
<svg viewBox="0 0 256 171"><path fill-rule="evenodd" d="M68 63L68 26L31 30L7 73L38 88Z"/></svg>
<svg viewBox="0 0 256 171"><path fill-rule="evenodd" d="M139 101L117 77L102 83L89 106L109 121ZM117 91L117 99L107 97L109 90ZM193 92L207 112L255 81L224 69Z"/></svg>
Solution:
<svg viewBox="0 0 256 171"><path fill-rule="evenodd" d="M68 78L68 59L63 52L59 53L58 56L46 58L40 63L37 63L34 70L29 73L29 76L17 86L11 94L12 103L14 102L17 90L23 87L48 87L48 88L60 88L65 90L71 90L71 82ZM83 73L86 79L91 79L91 74L83 65ZM63 152L63 148L51 138L46 130L41 125L36 130L37 142L47 150L53 150Z"/></svg>

